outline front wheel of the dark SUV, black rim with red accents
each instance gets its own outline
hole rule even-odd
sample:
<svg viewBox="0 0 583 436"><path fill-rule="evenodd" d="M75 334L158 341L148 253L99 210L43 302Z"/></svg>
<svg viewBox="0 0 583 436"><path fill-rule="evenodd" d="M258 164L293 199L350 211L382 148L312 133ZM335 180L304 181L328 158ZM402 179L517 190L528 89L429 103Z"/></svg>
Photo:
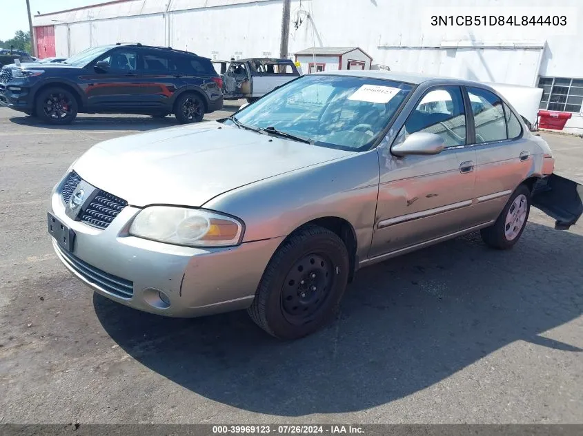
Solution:
<svg viewBox="0 0 583 436"><path fill-rule="evenodd" d="M39 119L52 125L70 124L77 117L77 98L62 87L50 87L41 91L34 104Z"/></svg>

